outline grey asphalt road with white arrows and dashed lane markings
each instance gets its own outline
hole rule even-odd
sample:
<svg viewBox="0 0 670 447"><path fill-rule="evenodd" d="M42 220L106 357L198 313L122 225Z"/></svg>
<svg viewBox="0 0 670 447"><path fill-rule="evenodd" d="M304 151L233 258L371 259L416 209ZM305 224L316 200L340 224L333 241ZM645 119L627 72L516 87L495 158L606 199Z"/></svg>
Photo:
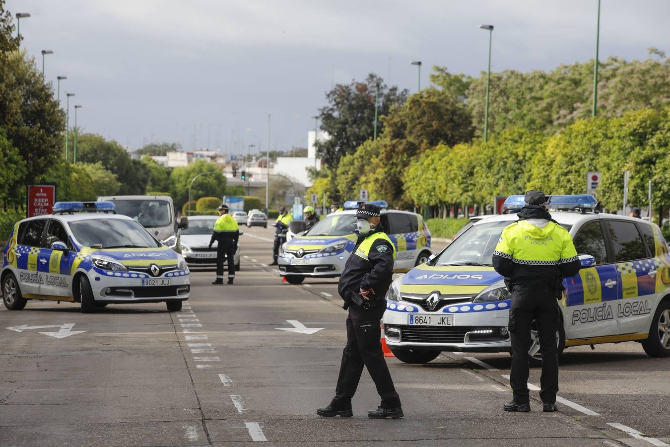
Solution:
<svg viewBox="0 0 670 447"><path fill-rule="evenodd" d="M139 304L80 314L53 302L0 310L0 445L670 444L670 359L650 359L634 342L566 350L557 413L541 412L537 391L531 413L502 411L509 355L443 353L428 365L387 359L404 419L367 418L379 396L366 372L353 418L319 418L345 342L336 280L282 283L267 266L271 229L245 230L235 285L195 272L180 312ZM280 330L295 328L289 321L322 329Z"/></svg>

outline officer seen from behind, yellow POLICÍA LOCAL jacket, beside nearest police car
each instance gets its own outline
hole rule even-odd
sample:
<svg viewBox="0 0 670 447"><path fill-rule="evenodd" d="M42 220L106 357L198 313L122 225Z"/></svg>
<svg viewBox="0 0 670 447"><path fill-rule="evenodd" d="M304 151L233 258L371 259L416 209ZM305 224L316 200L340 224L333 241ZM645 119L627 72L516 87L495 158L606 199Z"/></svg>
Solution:
<svg viewBox="0 0 670 447"><path fill-rule="evenodd" d="M525 194L519 220L505 227L493 253L493 267L505 277L512 295L509 332L512 343L510 385L513 399L505 411L531 411L528 392L528 350L535 320L542 352L540 399L543 411L556 411L558 359L556 331L563 277L574 276L580 261L567 230L551 219L541 191Z"/></svg>

